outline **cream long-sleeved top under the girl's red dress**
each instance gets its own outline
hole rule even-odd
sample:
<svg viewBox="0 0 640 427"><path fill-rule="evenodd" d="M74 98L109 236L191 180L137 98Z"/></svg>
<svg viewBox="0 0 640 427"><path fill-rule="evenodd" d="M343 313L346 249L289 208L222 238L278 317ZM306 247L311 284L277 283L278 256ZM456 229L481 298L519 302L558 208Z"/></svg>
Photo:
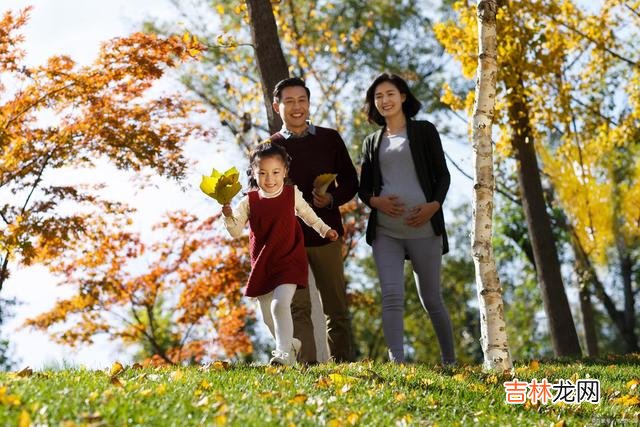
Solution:
<svg viewBox="0 0 640 427"><path fill-rule="evenodd" d="M283 189L284 186L280 187L280 189L274 193L265 193L258 189L258 193L260 197L271 199L282 194ZM325 237L327 232L331 230L331 227L316 215L313 208L309 206L309 203L302 197L302 192L298 190L297 186L294 185L293 190L295 195L295 214L302 218L305 224L316 230L320 236ZM223 218L224 225L231 237L239 237L242 234L245 224L249 220L249 196L247 195L240 199L238 206L233 210L232 216L225 216Z"/></svg>

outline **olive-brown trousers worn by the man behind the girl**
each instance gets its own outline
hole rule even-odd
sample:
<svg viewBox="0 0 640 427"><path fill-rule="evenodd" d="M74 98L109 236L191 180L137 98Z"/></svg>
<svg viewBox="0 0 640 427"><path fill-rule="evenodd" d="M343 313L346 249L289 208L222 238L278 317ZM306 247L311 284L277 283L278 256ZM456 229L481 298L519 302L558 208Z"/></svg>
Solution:
<svg viewBox="0 0 640 427"><path fill-rule="evenodd" d="M342 242L307 247L307 258L316 279L316 287L327 317L327 332L331 357L336 362L355 360L351 319L347 305L347 286L344 280ZM291 303L293 336L302 341L301 362L316 362L316 345L311 322L309 288L298 289Z"/></svg>

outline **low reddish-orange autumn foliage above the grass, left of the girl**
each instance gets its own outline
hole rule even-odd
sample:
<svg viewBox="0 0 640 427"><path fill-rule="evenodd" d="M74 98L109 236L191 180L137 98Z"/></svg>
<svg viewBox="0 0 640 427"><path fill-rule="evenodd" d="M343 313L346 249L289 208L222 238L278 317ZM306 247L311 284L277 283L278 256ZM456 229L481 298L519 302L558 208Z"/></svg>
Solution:
<svg viewBox="0 0 640 427"><path fill-rule="evenodd" d="M247 240L220 237L217 219L172 212L149 243L123 224L100 224L99 238L52 261L75 295L26 325L71 346L99 334L142 344L155 363L251 353L244 326L252 312L241 302Z"/></svg>

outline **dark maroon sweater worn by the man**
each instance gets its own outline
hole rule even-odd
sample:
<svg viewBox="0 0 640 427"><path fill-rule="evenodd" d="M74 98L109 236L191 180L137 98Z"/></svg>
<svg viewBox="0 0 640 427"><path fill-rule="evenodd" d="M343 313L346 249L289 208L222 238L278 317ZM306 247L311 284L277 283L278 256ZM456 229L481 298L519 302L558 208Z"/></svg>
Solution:
<svg viewBox="0 0 640 427"><path fill-rule="evenodd" d="M334 129L315 126L315 135L286 139L280 133L275 133L271 136L271 141L282 145L291 156L289 178L298 186L304 199L327 225L343 235L342 218L338 208L358 192L358 174L340 134ZM313 205L311 192L313 180L323 173L337 174L338 185L334 182L327 189L333 196L333 205L318 208ZM302 226L305 246L323 246L331 243L329 239L320 237L300 218L298 222Z"/></svg>

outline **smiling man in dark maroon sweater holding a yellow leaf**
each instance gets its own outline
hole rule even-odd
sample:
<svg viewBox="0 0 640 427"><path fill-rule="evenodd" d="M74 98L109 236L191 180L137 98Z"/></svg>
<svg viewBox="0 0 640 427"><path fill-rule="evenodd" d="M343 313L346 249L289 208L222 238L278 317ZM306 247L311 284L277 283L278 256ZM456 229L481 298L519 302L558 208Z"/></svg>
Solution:
<svg viewBox="0 0 640 427"><path fill-rule="evenodd" d="M300 78L280 81L273 92L273 109L283 121L282 130L271 141L282 145L291 156L289 177L316 214L343 235L340 205L358 191L358 175L349 152L334 129L312 125L309 119L309 88ZM325 194L318 194L313 181L318 175L337 174ZM355 360L355 347L346 298L342 262L342 239L321 238L300 221L307 258L327 317L329 348L336 362ZM299 289L291 304L294 336L302 341L300 361L316 362L316 346L311 322L309 288Z"/></svg>

